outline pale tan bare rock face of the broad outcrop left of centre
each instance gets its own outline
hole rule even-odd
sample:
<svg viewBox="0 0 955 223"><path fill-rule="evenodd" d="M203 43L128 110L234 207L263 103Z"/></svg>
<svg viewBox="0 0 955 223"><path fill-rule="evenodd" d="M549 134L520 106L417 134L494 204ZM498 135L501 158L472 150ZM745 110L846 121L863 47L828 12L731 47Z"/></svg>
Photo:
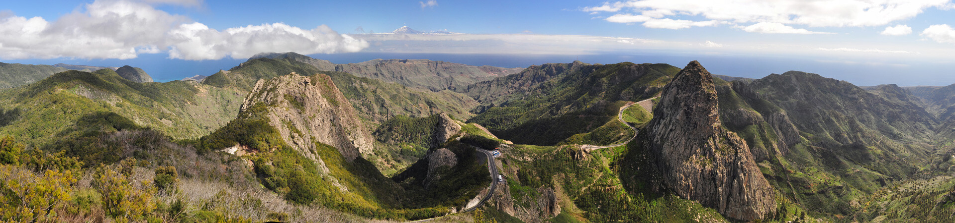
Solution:
<svg viewBox="0 0 955 223"><path fill-rule="evenodd" d="M307 156L316 142L335 147L349 161L372 152L370 131L328 75L301 76L293 72L259 80L240 111L259 102L277 105L268 108L271 126L279 130L289 146Z"/></svg>

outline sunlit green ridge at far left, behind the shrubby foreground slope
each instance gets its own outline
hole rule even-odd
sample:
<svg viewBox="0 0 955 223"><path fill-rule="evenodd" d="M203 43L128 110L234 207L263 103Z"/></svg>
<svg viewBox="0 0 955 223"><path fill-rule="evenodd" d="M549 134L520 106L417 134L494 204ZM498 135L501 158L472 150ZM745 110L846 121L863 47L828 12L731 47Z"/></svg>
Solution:
<svg viewBox="0 0 955 223"><path fill-rule="evenodd" d="M240 92L195 82L137 83L112 70L64 71L0 91L8 114L0 134L43 145L85 128L77 124L84 116L115 112L175 138L199 137L228 122L241 98Z"/></svg>

